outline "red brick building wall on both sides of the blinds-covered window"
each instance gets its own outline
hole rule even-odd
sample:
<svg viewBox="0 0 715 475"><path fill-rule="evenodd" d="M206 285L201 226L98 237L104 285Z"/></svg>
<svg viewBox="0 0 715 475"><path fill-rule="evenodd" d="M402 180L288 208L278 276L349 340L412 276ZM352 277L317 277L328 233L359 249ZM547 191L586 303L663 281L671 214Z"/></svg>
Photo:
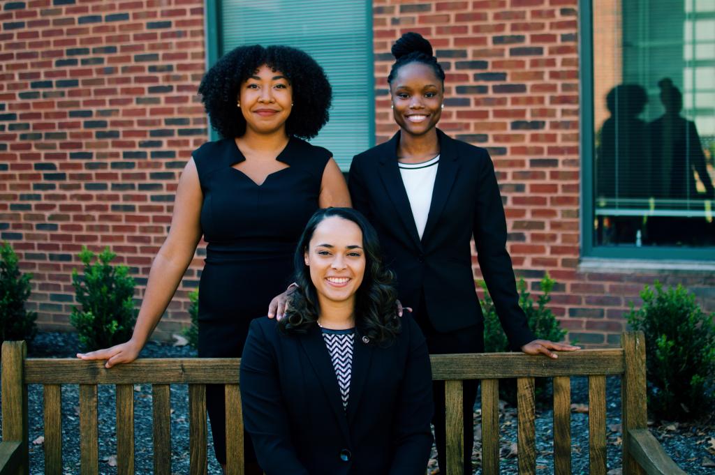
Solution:
<svg viewBox="0 0 715 475"><path fill-rule="evenodd" d="M7 2L0 11L0 238L34 274L30 305L69 329L77 251L109 245L140 284L169 226L190 152L207 140L201 0ZM587 346L616 344L645 283L682 283L715 309L715 277L580 271L577 0L373 1L375 131L395 131L386 77L405 31L447 73L440 128L489 149L516 274ZM157 336L186 324L202 246ZM475 259L475 278L480 278Z"/></svg>

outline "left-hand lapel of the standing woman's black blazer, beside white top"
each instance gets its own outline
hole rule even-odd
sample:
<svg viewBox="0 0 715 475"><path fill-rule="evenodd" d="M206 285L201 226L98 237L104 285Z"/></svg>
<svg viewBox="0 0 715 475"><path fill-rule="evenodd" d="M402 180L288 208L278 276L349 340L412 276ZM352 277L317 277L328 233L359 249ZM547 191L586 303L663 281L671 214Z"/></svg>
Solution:
<svg viewBox="0 0 715 475"><path fill-rule="evenodd" d="M383 145L383 153L379 156L380 179L383 181L383 185L385 185L385 190L388 192L388 196L390 196L390 201L392 201L395 208L397 208L400 221L402 221L409 236L408 239L410 239L418 249L422 249L420 235L417 232L415 218L412 215L412 208L410 207L410 199L408 199L405 184L402 181L400 168L398 167L397 146L399 141L400 132L398 131L390 141Z"/></svg>

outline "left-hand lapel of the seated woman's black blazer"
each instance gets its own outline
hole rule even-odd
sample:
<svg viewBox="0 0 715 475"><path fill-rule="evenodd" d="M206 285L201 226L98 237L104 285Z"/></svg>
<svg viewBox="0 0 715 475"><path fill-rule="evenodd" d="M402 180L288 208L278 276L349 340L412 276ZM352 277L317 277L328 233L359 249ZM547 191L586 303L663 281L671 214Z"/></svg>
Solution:
<svg viewBox="0 0 715 475"><path fill-rule="evenodd" d="M325 340L322 338L320 328L318 328L317 325L313 326L306 334L300 336L300 343L317 374L317 379L320 380L327 401L330 403L330 409L335 413L337 424L340 425L340 430L345 436L345 440L349 441L350 431L347 427L345 409L342 409L340 387L337 385L335 369L332 367L330 353L327 351L327 346L325 346Z"/></svg>

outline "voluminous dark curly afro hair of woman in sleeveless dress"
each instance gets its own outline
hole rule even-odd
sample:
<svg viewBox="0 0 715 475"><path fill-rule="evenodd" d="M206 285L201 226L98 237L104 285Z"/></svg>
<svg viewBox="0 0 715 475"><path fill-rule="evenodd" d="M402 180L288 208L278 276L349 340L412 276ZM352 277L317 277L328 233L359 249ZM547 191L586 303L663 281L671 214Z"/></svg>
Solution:
<svg viewBox="0 0 715 475"><path fill-rule="evenodd" d="M211 126L224 139L245 134L246 120L236 99L241 84L264 64L284 74L293 89L286 133L301 139L315 137L329 118L332 88L315 59L290 46L239 46L209 69L199 85L199 94Z"/></svg>

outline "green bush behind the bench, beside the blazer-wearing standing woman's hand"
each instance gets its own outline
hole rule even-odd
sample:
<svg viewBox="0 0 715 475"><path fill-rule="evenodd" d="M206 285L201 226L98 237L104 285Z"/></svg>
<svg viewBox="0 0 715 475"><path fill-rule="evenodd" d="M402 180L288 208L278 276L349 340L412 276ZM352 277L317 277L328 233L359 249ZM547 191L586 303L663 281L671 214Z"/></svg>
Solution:
<svg viewBox="0 0 715 475"><path fill-rule="evenodd" d="M551 291L556 281L548 274L541 279L541 291L536 304L531 298L531 292L527 291L526 281L519 279L516 288L519 292L519 306L526 314L526 321L529 328L536 335L537 339L561 341L566 335L566 330L561 329L561 325L556 320L551 309L547 305L551 301ZM509 341L501 327L499 317L496 314L494 302L488 294L486 284L480 281L484 289L484 299L480 301L482 313L484 314L484 351L498 352L509 351ZM536 397L539 401L545 401L550 394L548 381L543 378L536 380ZM499 394L501 399L516 403L516 381L506 379L499 384Z"/></svg>

